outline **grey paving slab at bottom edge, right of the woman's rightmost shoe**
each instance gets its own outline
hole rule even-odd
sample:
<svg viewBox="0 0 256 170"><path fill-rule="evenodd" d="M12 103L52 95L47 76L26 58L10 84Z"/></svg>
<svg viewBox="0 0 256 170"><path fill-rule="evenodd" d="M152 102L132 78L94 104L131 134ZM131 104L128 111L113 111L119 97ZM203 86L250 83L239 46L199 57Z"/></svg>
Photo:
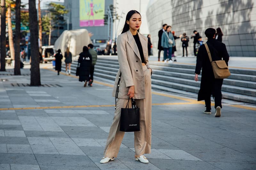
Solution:
<svg viewBox="0 0 256 170"><path fill-rule="evenodd" d="M150 163L157 166L161 170L179 169L179 170L220 170L214 165L204 161L192 160L174 160L174 159L148 159Z"/></svg>

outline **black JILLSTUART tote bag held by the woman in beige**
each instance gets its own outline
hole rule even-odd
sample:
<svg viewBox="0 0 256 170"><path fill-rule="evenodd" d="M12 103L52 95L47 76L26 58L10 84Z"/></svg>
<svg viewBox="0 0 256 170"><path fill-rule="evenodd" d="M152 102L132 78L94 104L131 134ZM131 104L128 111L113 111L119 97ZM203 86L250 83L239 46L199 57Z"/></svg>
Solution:
<svg viewBox="0 0 256 170"><path fill-rule="evenodd" d="M132 102L132 108L129 108L130 100ZM132 98L128 99L125 108L121 108L120 131L140 131L140 108L136 106L135 101Z"/></svg>

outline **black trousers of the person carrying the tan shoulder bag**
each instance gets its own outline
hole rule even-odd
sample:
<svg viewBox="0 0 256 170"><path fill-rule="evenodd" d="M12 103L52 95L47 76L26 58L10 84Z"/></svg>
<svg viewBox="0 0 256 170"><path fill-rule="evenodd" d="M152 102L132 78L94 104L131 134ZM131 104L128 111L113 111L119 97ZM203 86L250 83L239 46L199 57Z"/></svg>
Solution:
<svg viewBox="0 0 256 170"><path fill-rule="evenodd" d="M222 93L221 93L221 86L223 84L223 79L215 79L215 81L212 84L212 91L209 90L206 92L205 94L205 107L207 110L211 110L211 94L214 95L214 102L215 102L215 106L214 108L220 106L220 108L222 108L221 105L221 99L222 99Z"/></svg>

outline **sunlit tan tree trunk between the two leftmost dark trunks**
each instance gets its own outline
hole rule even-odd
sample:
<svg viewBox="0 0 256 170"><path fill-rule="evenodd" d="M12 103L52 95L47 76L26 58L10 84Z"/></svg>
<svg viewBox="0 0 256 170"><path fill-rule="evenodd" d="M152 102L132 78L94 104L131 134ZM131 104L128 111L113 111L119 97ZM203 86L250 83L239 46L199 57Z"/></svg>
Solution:
<svg viewBox="0 0 256 170"><path fill-rule="evenodd" d="M10 47L11 59L14 60L14 46L13 46L12 19L11 19L11 4L7 4L7 23L8 23L8 37L9 37L9 47Z"/></svg>

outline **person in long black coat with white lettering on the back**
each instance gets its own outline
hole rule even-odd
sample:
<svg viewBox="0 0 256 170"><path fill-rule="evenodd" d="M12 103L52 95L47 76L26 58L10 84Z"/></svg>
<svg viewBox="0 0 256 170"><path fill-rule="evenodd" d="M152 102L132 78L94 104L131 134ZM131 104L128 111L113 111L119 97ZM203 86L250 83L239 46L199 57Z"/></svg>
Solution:
<svg viewBox="0 0 256 170"><path fill-rule="evenodd" d="M84 82L84 87L90 81L90 70L92 66L92 55L89 53L88 47L83 47L83 52L79 54L79 81Z"/></svg>

